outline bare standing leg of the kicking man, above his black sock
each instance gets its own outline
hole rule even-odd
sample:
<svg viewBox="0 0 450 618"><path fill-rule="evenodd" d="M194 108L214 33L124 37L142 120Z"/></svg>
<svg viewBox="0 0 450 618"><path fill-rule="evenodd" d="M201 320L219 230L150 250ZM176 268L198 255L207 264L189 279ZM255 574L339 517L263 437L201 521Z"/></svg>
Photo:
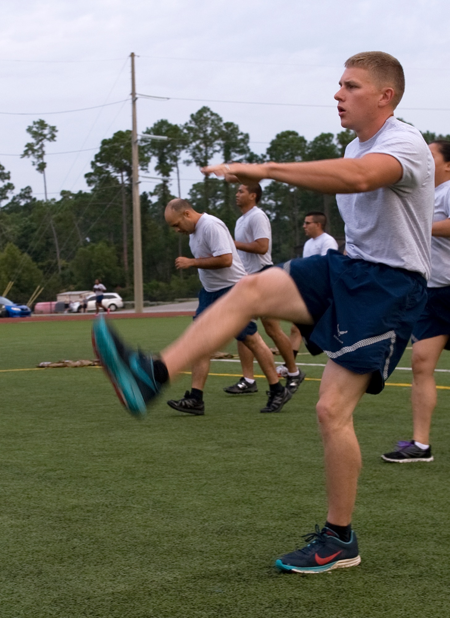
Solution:
<svg viewBox="0 0 450 618"><path fill-rule="evenodd" d="M353 411L370 373L359 375L329 360L320 384L317 417L325 450L328 521L347 526L352 520L361 452L353 427Z"/></svg>

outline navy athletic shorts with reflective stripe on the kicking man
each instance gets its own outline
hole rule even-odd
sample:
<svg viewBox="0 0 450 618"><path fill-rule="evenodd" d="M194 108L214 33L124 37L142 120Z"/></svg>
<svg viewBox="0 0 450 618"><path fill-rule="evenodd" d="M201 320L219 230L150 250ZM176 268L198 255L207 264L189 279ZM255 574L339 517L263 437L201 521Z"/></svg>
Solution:
<svg viewBox="0 0 450 618"><path fill-rule="evenodd" d="M313 326L297 324L308 350L325 352L354 373L371 373L367 392L381 392L425 307L422 275L334 250L279 266L294 279L313 317Z"/></svg>

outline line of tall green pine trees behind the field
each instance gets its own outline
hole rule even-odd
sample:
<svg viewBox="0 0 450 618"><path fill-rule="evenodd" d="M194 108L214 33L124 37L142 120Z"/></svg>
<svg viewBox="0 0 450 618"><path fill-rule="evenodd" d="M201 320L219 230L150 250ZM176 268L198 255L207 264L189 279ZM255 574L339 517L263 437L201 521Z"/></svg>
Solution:
<svg viewBox="0 0 450 618"><path fill-rule="evenodd" d="M27 128L30 142L22 157L32 159L42 174L45 199L33 196L30 187L15 193L11 174L0 164L0 294L14 282L9 297L27 302L36 287L38 300L53 300L57 292L90 289L101 278L108 289L131 299L132 199L131 132L117 131L104 139L85 174L89 190L63 190L59 199L48 199L46 143L56 140L57 129L42 119ZM430 143L450 135L422 133ZM164 221L164 208L179 197L181 163L203 167L214 158L223 161L316 161L344 155L354 133L320 133L309 141L294 130L278 133L263 155L253 153L250 136L234 122L204 106L184 124L159 120L142 132L139 143L140 171L150 166L160 182L140 195L142 210L143 276L146 300L191 297L199 288L196 272L177 273L177 255L189 254L188 239L177 235ZM188 199L193 208L223 219L230 231L239 211L236 186L205 177L192 185ZM333 196L270 182L263 190L261 208L268 214L273 232L275 262L301 255L305 242L302 223L310 210L323 211L329 232L343 240L344 229Z"/></svg>

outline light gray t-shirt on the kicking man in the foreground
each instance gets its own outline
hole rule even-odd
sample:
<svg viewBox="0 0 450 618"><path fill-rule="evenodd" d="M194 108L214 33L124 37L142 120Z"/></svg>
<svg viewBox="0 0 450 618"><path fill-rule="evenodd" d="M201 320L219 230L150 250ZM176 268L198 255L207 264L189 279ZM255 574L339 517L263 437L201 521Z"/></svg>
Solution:
<svg viewBox="0 0 450 618"><path fill-rule="evenodd" d="M396 184L367 193L339 193L350 258L404 268L430 277L435 164L420 132L394 117L366 142L355 138L346 158L391 155L403 174Z"/></svg>

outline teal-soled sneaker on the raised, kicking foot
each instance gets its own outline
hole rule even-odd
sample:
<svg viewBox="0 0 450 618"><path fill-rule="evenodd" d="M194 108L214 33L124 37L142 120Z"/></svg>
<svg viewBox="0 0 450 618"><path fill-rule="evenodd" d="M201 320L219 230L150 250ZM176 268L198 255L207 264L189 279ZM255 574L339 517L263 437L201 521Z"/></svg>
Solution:
<svg viewBox="0 0 450 618"><path fill-rule="evenodd" d="M167 381L166 366L158 358L127 348L103 316L94 321L92 345L121 403L134 416L145 415L146 406ZM155 377L155 369L158 381Z"/></svg>

